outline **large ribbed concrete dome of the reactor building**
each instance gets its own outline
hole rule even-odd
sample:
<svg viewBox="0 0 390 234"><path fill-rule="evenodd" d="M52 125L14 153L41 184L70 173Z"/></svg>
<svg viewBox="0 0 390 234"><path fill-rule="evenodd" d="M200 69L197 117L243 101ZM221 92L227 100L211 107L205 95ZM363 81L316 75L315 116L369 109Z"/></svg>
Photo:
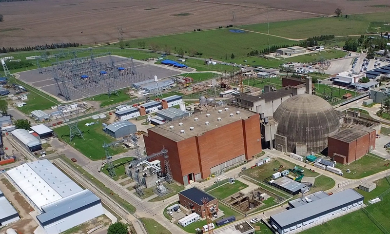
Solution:
<svg viewBox="0 0 390 234"><path fill-rule="evenodd" d="M287 99L273 117L278 121L276 133L287 138L287 147L283 149L287 152L294 152L297 143L306 143L306 154L321 152L328 147L328 137L340 129L339 118L332 106L310 94ZM275 148L276 144L275 139Z"/></svg>

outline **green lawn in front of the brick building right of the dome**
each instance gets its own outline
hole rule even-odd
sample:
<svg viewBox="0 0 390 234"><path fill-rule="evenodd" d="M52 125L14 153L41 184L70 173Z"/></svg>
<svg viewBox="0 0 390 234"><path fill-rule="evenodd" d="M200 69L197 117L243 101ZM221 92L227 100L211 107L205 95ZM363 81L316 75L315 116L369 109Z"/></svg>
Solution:
<svg viewBox="0 0 390 234"><path fill-rule="evenodd" d="M387 163L388 161L383 161L374 156L366 155L352 162L350 165L337 163L336 168L341 169L344 173L343 176L346 178L360 179L389 169L389 167L384 166L384 164ZM350 169L351 173L347 173L347 169Z"/></svg>

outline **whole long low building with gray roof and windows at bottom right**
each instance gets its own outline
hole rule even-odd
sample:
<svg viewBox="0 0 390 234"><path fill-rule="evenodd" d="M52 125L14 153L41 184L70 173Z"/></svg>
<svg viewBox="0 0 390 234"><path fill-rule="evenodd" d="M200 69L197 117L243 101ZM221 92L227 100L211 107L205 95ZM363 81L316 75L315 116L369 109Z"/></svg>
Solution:
<svg viewBox="0 0 390 234"><path fill-rule="evenodd" d="M299 199L300 203L295 202L299 205L292 206L291 201L288 211L271 215L271 225L278 234L298 233L358 210L362 208L364 197L353 189L347 189L333 195Z"/></svg>

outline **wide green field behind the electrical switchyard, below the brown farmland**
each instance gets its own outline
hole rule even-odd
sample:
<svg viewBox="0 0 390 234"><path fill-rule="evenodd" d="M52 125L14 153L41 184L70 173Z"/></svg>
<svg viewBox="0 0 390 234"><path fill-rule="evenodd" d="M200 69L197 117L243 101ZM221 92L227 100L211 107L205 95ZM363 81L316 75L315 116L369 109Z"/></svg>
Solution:
<svg viewBox="0 0 390 234"><path fill-rule="evenodd" d="M268 48L268 36L263 34L243 32L234 33L223 28L217 30L207 30L200 32L183 33L169 36L160 36L145 39L133 39L128 41L131 47L138 47L138 42L145 42L146 48L151 44L165 45L171 47L171 52L176 53L179 48L184 50L185 55L189 55L190 49L202 53L202 58L230 60L232 53L235 58L246 57L252 50L263 50ZM221 43L223 39L223 43ZM273 45L292 45L296 42L270 37ZM247 59L248 60L248 59Z"/></svg>

